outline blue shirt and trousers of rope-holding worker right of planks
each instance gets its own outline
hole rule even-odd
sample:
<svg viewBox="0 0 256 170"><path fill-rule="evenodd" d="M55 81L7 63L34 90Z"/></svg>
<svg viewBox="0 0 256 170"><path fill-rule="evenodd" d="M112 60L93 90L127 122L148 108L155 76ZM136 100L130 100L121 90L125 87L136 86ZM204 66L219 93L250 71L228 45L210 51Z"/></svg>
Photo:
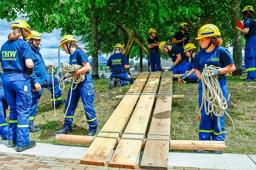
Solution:
<svg viewBox="0 0 256 170"><path fill-rule="evenodd" d="M211 51L210 53L206 53L205 49L202 49L196 54L193 68L200 70L200 72L203 72L205 64L207 64L208 66L214 65L220 68L224 68L229 64L234 64L234 61L231 58L228 49L218 46L215 47L213 51ZM223 96L224 98L226 98L227 102L229 102L226 76L224 76L224 74L220 74L218 75L218 80L220 83L220 88L222 90ZM202 81L200 80L198 85L199 107L201 107L202 105L202 91ZM208 105L208 102L206 102L206 104ZM224 141L226 134L222 133L218 129L217 117L213 114L206 115L204 107L205 106L203 106L201 110L199 140L210 141L212 137L212 141ZM225 115L223 117L220 117L219 119L220 129L222 131L225 131L224 119Z"/></svg>

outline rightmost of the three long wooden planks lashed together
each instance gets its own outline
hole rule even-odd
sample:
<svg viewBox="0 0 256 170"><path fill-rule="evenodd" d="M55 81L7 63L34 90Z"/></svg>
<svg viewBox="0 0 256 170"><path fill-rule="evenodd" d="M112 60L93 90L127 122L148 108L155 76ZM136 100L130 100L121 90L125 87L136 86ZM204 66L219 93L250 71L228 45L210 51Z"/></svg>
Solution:
<svg viewBox="0 0 256 170"><path fill-rule="evenodd" d="M148 139L166 140L147 140L141 161L141 168L145 169L168 169L168 154L170 147L170 123L172 109L172 77L171 72L162 74L162 80L156 100ZM169 94L168 94L169 93ZM150 135L150 134L165 134Z"/></svg>

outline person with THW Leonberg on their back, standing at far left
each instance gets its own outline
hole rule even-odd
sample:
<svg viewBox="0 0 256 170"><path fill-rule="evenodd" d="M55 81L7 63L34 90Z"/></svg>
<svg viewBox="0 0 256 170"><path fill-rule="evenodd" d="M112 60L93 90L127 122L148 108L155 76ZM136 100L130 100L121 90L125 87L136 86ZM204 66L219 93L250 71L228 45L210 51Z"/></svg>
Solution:
<svg viewBox="0 0 256 170"><path fill-rule="evenodd" d="M4 71L2 83L9 114L9 145L18 145L17 152L30 149L36 145L29 140L29 113L31 92L29 74L33 72L33 56L30 45L24 41L31 34L28 23L16 20L8 40L2 45L0 52L0 69Z"/></svg>

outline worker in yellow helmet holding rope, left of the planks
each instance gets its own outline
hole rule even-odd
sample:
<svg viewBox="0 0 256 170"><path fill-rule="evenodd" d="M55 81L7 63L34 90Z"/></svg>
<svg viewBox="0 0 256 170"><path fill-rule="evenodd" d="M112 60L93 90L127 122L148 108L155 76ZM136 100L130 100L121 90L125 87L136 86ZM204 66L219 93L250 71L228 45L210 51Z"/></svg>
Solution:
<svg viewBox="0 0 256 170"><path fill-rule="evenodd" d="M67 70L66 74L61 78L61 80L64 80L73 76L72 82L76 82L72 83L72 86L70 86L68 91L63 128L56 131L56 133L65 134L72 132L71 125L73 116L78 101L81 98L84 105L87 123L89 125L89 131L86 135L94 136L97 131L98 121L96 119L96 113L93 106L94 88L92 84L92 76L89 73L91 67L87 55L78 45L76 45L76 43L76 38L73 35L65 35L60 40L59 47L63 48L67 54L70 54L68 65L76 66L77 70L72 70L72 72L68 72ZM79 74L83 75L81 79L78 78Z"/></svg>

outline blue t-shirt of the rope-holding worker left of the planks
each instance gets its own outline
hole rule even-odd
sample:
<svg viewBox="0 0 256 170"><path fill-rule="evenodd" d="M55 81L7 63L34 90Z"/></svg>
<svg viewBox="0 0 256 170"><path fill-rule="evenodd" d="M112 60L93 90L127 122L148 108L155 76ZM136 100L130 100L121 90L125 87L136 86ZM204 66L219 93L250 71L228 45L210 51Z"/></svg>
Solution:
<svg viewBox="0 0 256 170"><path fill-rule="evenodd" d="M74 51L74 53L70 55L68 63L70 65L78 64L80 66L84 66L82 63L87 63L87 62L89 61L86 53L84 53L84 51L80 49L76 49L76 51Z"/></svg>

